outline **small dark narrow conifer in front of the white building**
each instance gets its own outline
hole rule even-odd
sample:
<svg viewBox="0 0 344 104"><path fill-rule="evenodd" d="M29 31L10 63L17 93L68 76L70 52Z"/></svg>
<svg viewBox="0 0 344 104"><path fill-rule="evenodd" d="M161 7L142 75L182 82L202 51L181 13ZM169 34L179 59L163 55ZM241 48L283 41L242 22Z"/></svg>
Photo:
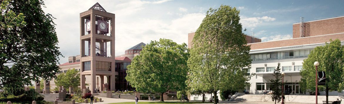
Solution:
<svg viewBox="0 0 344 104"><path fill-rule="evenodd" d="M275 79L270 79L271 82L271 87L270 90L273 92L273 95L271 95L271 100L280 102L282 99L282 75L281 75L281 64L278 63L277 68L273 71L273 76L275 77Z"/></svg>

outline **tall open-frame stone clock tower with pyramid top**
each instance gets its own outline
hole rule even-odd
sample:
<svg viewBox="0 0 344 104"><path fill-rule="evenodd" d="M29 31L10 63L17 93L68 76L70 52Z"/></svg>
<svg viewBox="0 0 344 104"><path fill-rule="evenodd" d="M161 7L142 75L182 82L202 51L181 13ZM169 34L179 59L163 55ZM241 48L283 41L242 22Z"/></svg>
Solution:
<svg viewBox="0 0 344 104"><path fill-rule="evenodd" d="M85 76L89 76L88 90L115 91L115 14L108 13L97 2L80 13L80 87L87 93ZM100 86L96 85L100 78ZM104 87L104 80L108 87ZM98 83L98 82L97 82ZM104 89L108 88L108 89Z"/></svg>

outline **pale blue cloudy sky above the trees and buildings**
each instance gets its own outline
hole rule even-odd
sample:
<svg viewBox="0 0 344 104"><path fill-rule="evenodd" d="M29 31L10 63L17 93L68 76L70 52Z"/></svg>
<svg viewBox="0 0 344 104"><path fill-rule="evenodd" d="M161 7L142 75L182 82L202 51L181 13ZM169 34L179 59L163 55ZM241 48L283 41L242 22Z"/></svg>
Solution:
<svg viewBox="0 0 344 104"><path fill-rule="evenodd" d="M187 43L209 8L230 5L240 10L244 33L262 42L292 38L292 24L344 15L344 0L45 0L45 13L56 19L58 46L68 62L80 54L79 13L98 2L115 18L115 56L141 42L159 38Z"/></svg>

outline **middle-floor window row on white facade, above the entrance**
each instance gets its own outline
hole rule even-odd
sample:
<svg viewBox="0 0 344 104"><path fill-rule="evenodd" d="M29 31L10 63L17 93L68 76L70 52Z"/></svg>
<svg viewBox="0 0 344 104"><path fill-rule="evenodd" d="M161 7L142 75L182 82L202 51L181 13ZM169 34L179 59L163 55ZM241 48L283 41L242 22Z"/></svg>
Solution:
<svg viewBox="0 0 344 104"><path fill-rule="evenodd" d="M260 68L256 68L256 72L265 72L265 71L273 72L275 69L276 67L260 67ZM293 66L282 66L282 71L300 71L300 70L302 70L302 65L294 66L294 70L293 70ZM250 69L248 70L248 73L250 73Z"/></svg>

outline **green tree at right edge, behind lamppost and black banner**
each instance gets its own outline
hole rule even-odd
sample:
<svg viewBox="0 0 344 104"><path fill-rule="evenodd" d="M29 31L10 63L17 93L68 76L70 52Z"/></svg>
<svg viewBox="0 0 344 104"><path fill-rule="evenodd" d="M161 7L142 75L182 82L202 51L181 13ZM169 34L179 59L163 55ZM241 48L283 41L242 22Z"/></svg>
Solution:
<svg viewBox="0 0 344 104"><path fill-rule="evenodd" d="M324 86L318 85L318 89L325 89L326 103L328 103L329 90L340 91L343 89L343 67L344 67L344 46L341 46L341 41L335 39L325 46L317 46L308 55L308 58L303 60L303 70L301 70L302 87L315 91L315 67L314 62L318 61L318 71L325 71L326 84ZM304 86L305 85L305 86Z"/></svg>

